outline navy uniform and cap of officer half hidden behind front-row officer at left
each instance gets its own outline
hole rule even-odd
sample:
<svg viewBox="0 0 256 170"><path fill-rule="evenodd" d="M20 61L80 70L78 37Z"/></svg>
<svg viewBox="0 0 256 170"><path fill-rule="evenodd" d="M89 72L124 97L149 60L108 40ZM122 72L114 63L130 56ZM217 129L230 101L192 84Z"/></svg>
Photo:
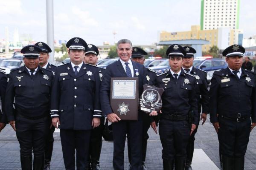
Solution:
<svg viewBox="0 0 256 170"><path fill-rule="evenodd" d="M49 47L49 45L47 45L44 42L37 42L35 43L35 46L38 46L39 48L41 48L42 52L49 54L50 52L52 52L52 49ZM56 66L50 64L49 62L47 63L47 65L45 65L43 68L52 71L52 74L54 75L55 73L55 69ZM50 111L49 111L49 127L52 124L52 119L50 117ZM52 126L49 129L49 133L47 135L47 139L46 139L46 143L45 143L45 157L44 157L44 170L49 170L50 169L50 161L52 159L52 150L53 150L53 142L54 142L54 138L53 138L53 133L54 133L55 127Z"/></svg>

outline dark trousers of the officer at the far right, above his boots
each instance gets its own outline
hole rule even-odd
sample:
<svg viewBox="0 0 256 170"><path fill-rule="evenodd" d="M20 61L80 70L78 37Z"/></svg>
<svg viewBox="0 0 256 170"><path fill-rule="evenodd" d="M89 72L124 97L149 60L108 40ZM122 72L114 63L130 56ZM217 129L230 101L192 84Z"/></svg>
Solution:
<svg viewBox="0 0 256 170"><path fill-rule="evenodd" d="M250 136L250 119L236 122L219 116L219 125L218 140L221 155L229 157L244 156Z"/></svg>

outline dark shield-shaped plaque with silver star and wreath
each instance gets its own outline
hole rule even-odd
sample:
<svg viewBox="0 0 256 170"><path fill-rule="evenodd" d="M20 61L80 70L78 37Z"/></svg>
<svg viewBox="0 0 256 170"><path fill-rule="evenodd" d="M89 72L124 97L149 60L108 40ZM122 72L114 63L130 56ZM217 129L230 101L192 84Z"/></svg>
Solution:
<svg viewBox="0 0 256 170"><path fill-rule="evenodd" d="M151 111L159 112L162 108L163 88L157 88L156 86L143 85L143 93L140 97L140 110L145 113L151 113Z"/></svg>

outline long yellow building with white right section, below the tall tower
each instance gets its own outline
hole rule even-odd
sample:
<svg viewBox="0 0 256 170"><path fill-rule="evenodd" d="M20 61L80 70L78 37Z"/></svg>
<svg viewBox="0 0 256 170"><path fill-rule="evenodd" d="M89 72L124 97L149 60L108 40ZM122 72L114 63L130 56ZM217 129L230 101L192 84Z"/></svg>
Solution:
<svg viewBox="0 0 256 170"><path fill-rule="evenodd" d="M225 49L229 45L241 44L242 31L238 29L231 29L229 27L201 30L200 26L191 26L191 31L182 32L160 32L160 41L172 40L208 40L210 44L202 45L202 51L209 51L209 49L216 45L219 49Z"/></svg>

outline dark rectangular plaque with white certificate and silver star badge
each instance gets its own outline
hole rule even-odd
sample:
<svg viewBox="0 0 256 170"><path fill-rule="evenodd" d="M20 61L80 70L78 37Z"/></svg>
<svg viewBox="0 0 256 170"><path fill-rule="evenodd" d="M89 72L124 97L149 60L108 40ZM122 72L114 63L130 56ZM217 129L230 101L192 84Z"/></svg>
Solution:
<svg viewBox="0 0 256 170"><path fill-rule="evenodd" d="M121 120L138 120L138 77L111 78L110 104Z"/></svg>

